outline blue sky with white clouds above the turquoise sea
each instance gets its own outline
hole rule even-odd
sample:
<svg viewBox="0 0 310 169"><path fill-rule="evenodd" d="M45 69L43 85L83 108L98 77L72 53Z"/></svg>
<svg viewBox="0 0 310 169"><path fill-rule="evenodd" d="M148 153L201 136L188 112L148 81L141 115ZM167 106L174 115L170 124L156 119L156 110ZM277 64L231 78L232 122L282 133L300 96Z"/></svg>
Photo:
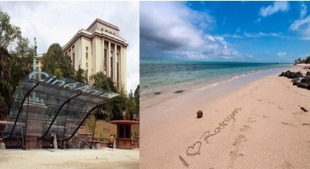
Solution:
<svg viewBox="0 0 310 169"><path fill-rule="evenodd" d="M293 62L310 55L309 5L143 1L140 59Z"/></svg>

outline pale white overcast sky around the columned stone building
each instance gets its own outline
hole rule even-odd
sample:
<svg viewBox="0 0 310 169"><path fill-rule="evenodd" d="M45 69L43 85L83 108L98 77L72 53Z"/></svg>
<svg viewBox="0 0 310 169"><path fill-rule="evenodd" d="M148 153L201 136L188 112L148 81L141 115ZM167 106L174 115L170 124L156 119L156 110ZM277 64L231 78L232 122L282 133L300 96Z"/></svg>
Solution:
<svg viewBox="0 0 310 169"><path fill-rule="evenodd" d="M139 1L0 1L23 37L33 44L37 38L37 52L48 50L52 43L64 46L81 28L88 28L99 18L119 27L119 35L126 39L127 92L139 84Z"/></svg>

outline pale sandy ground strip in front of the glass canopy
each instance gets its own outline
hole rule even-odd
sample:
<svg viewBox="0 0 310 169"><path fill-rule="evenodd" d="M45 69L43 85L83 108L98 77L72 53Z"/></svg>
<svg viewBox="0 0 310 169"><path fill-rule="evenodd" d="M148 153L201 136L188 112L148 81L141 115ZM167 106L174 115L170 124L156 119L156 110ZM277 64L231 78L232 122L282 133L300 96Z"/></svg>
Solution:
<svg viewBox="0 0 310 169"><path fill-rule="evenodd" d="M139 168L139 149L0 150L0 168Z"/></svg>

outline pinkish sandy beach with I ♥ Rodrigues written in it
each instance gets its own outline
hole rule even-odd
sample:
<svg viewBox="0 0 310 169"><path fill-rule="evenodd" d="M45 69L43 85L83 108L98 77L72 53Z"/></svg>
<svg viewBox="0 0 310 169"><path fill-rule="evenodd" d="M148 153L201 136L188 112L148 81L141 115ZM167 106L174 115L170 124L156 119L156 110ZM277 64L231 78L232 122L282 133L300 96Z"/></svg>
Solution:
<svg viewBox="0 0 310 169"><path fill-rule="evenodd" d="M140 168L310 168L310 90L278 74L141 101Z"/></svg>

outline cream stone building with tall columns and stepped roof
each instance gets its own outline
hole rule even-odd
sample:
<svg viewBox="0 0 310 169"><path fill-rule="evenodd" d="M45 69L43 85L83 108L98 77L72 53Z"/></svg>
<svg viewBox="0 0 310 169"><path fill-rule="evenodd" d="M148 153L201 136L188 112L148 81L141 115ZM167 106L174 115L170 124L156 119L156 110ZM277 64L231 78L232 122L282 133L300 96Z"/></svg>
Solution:
<svg viewBox="0 0 310 169"><path fill-rule="evenodd" d="M71 57L75 70L79 66L91 74L104 72L115 82L117 89L126 88L126 48L128 43L119 37L119 28L101 19L79 30L65 46L64 54Z"/></svg>

